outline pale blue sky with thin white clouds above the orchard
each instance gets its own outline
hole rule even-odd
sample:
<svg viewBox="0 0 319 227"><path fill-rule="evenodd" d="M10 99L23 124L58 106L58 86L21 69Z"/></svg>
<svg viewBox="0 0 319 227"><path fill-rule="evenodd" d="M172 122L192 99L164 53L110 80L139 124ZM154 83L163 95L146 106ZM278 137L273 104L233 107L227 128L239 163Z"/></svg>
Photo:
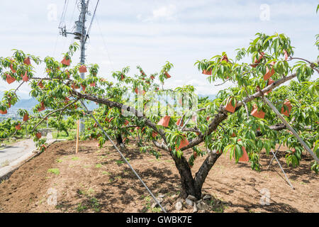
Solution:
<svg viewBox="0 0 319 227"><path fill-rule="evenodd" d="M1 57L11 56L12 49L23 50L42 58L47 55L62 60L72 35L59 34L59 24L72 31L79 18L76 0L1 1ZM89 1L89 27L97 0ZM130 75L140 65L146 74L159 72L166 61L174 68L164 88L191 84L198 94L217 94L232 86L216 87L198 72L196 60L209 59L226 52L235 58L236 48L247 48L257 32L285 33L291 38L295 57L315 60L318 49L318 1L99 1L86 45L86 64L100 66L99 76L113 81L111 72L130 66ZM66 6L65 17L62 11ZM61 20L62 19L62 20ZM73 57L79 61L79 52ZM37 75L44 75L44 66ZM315 76L315 77L318 77ZM12 86L13 85L13 86ZM17 87L0 81L0 92ZM27 99L30 89L23 85L18 95Z"/></svg>

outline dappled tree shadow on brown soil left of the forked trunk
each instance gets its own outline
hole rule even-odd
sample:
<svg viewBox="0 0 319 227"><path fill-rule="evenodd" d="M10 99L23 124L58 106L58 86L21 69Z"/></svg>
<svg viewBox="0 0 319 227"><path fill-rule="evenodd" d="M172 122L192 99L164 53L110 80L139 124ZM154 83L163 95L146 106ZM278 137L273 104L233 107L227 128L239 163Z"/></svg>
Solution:
<svg viewBox="0 0 319 227"><path fill-rule="evenodd" d="M133 159L134 157L131 158ZM159 193L167 194L172 191L177 191L176 184L179 183L179 177L172 175L170 170L152 167L152 169L148 168L143 171L138 171L138 175L145 181L145 184L147 184L147 187L149 187L155 196ZM113 179L113 181L111 184L108 182L101 183L101 186L104 187L102 192L92 194L91 196L77 193L79 198L82 199L80 204L75 206L72 201L61 201L57 204L57 209L77 212L87 212L88 209L93 212L99 212L102 209L104 212L121 213L124 211L123 205L130 204L130 206L134 206L134 204L136 205L135 201L143 200L142 198L147 194L147 190L142 186L138 177L133 174L129 167L124 167L121 173L111 173L109 177ZM133 184L126 184L125 179L130 180L130 182L132 182L132 179L136 180ZM132 196L128 194L128 190L133 190L135 195ZM117 195L120 194L120 196L115 196L113 192L116 192ZM149 194L147 194L147 196L149 196ZM142 209L138 209L138 211L142 212Z"/></svg>

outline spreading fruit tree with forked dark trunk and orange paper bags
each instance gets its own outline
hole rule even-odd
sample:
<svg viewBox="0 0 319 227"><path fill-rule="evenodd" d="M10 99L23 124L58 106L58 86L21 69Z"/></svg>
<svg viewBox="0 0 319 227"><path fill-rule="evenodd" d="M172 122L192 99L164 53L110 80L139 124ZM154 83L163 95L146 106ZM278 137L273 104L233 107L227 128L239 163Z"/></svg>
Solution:
<svg viewBox="0 0 319 227"><path fill-rule="evenodd" d="M318 39L319 36L316 42L319 48ZM129 68L125 67L113 72L112 76L118 81L113 83L98 76L98 65L70 67L71 57L77 48L76 43L71 45L61 63L52 57L40 60L40 57L26 55L21 50L15 50L12 57L0 58L1 77L9 83L16 80L20 83L18 87L28 83L31 87L30 95L39 101L28 120L33 125L35 141L39 146L43 145L44 140L37 137L36 128L45 118L59 118L62 114L84 118L87 115L80 100L94 101L100 107L93 114L101 126L117 138L118 143L127 143L135 128L141 135L142 151L150 151L159 157L160 152L153 149L153 145L172 157L181 177L181 196L191 194L199 199L203 183L222 153L230 153L230 158L235 158L236 162L240 158L245 159L247 153L252 169L260 170L259 153L263 149L269 153L276 143L282 142L290 148L286 156L287 162L293 166L298 165L303 148L264 104L263 96L267 95L319 156L318 79L310 80L314 72L319 71L318 62L293 57L291 41L284 34L257 33L247 49L237 49L234 60L223 52L210 60L196 62L198 70L208 74L209 82L222 79L224 82L233 82L235 86L220 91L213 101L200 100L195 111L185 109L181 117L167 116L164 119L158 114L146 115L135 103L144 110L147 104L158 98L154 95L155 92L164 91L164 81L171 77L169 70L173 65L170 62L159 73L150 76L138 67L140 74L130 77ZM244 62L246 56L252 57L252 62ZM30 60L35 64L45 64L47 70L44 77L35 76ZM79 69L86 70L86 67L89 73L82 79ZM155 84L156 77L159 78L162 89L159 89L159 84ZM295 78L296 82L281 86ZM17 89L6 93L1 102L1 111L18 101ZM125 99L124 94L128 91L136 94L133 105L128 105L130 102ZM145 92L152 93L147 96ZM194 92L194 87L177 87L165 92L191 93ZM169 95L165 95L167 96ZM169 109L174 109L174 106L165 99L168 106L165 111L169 115ZM182 96L178 101L190 106L193 104L194 107L194 103L187 97ZM125 111L133 115L127 116ZM162 126L157 122L163 123ZM84 138L99 138L100 145L103 145L107 138L94 124L92 119L86 120ZM191 167L199 155L205 155L206 159L193 176ZM318 162L313 162L312 168L318 171Z"/></svg>

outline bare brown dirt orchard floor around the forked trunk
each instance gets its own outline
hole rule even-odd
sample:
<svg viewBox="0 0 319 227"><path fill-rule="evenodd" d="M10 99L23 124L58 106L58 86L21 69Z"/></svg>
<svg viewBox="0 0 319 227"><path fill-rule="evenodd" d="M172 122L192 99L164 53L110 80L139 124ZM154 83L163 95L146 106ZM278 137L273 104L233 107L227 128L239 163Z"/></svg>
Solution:
<svg viewBox="0 0 319 227"><path fill-rule="evenodd" d="M74 141L51 145L0 184L0 212L159 212L111 143L101 149L96 144L96 140L81 142L77 155ZM180 185L172 158L163 153L156 160L133 143L124 155L152 192L164 195L164 202L171 204L165 206L168 211L175 212ZM295 169L287 168L283 150L278 156L295 190L275 160L267 170L271 156L261 155L262 172L256 172L249 162L235 165L228 153L223 154L203 185L203 194L213 196L211 212L319 212L318 175L310 170L310 155ZM204 158L196 159L193 174ZM54 201L54 192L56 206L48 203ZM269 205L263 206L267 193Z"/></svg>

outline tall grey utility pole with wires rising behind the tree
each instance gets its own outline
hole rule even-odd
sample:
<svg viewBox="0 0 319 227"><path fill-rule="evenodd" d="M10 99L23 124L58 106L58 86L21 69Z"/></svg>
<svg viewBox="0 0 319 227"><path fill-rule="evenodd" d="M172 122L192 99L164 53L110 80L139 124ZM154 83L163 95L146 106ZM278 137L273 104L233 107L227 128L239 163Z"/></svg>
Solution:
<svg viewBox="0 0 319 227"><path fill-rule="evenodd" d="M67 32L67 29L64 27L59 27L61 29L60 34L62 36L67 37L67 34L74 35L74 39L80 40L80 47L81 47L81 57L80 57L80 64L85 64L85 43L86 43L86 14L90 14L89 9L89 0L80 0L80 3L78 5L80 14L79 14L79 21L75 21L75 30L74 33ZM82 79L84 79L84 73L80 73L80 76ZM81 87L82 89L82 87ZM84 123L82 120L80 120L80 126L79 131L84 131Z"/></svg>

